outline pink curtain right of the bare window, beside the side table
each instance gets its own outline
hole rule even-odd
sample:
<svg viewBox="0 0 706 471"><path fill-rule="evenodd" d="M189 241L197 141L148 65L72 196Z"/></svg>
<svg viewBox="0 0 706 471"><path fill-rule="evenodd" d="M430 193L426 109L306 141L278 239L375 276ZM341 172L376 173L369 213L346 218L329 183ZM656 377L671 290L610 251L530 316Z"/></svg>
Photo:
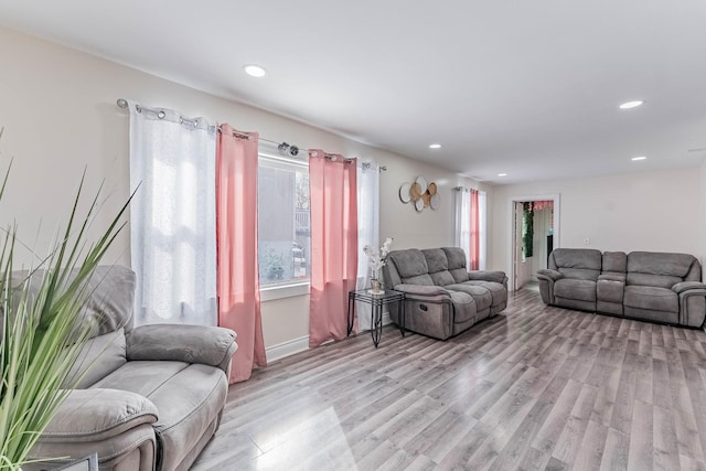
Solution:
<svg viewBox="0 0 706 471"><path fill-rule="evenodd" d="M355 159L309 151L311 299L309 346L341 340L357 271Z"/></svg>

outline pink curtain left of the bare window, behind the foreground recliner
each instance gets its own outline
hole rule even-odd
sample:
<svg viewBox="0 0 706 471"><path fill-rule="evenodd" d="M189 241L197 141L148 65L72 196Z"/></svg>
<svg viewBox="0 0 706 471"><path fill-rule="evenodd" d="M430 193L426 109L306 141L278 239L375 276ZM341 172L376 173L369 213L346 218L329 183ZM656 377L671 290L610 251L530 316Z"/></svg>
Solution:
<svg viewBox="0 0 706 471"><path fill-rule="evenodd" d="M249 136L247 139L246 136ZM216 141L216 239L218 325L237 333L229 383L267 366L257 269L256 132L221 125Z"/></svg>

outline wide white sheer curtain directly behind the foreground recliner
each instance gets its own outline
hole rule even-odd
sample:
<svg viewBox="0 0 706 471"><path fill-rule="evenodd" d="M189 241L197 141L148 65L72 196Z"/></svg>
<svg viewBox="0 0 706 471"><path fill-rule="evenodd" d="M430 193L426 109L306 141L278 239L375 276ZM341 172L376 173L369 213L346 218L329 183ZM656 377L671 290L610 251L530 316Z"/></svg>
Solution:
<svg viewBox="0 0 706 471"><path fill-rule="evenodd" d="M128 105L135 322L215 325L215 127Z"/></svg>

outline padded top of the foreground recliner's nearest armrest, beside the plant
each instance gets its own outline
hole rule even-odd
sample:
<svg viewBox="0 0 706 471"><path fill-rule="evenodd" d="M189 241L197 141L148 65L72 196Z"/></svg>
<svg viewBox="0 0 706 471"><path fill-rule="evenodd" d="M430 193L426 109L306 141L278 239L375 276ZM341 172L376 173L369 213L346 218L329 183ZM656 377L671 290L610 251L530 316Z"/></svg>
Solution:
<svg viewBox="0 0 706 471"><path fill-rule="evenodd" d="M42 441L65 443L107 440L157 420L154 404L137 393L104 388L73 389L42 432Z"/></svg>

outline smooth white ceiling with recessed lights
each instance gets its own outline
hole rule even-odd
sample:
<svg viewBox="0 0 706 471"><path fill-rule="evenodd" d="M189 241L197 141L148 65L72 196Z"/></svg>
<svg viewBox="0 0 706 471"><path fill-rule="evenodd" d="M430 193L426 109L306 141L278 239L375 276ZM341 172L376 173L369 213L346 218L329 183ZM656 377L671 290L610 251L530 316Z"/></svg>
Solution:
<svg viewBox="0 0 706 471"><path fill-rule="evenodd" d="M494 183L706 157L703 0L0 0L0 24Z"/></svg>

